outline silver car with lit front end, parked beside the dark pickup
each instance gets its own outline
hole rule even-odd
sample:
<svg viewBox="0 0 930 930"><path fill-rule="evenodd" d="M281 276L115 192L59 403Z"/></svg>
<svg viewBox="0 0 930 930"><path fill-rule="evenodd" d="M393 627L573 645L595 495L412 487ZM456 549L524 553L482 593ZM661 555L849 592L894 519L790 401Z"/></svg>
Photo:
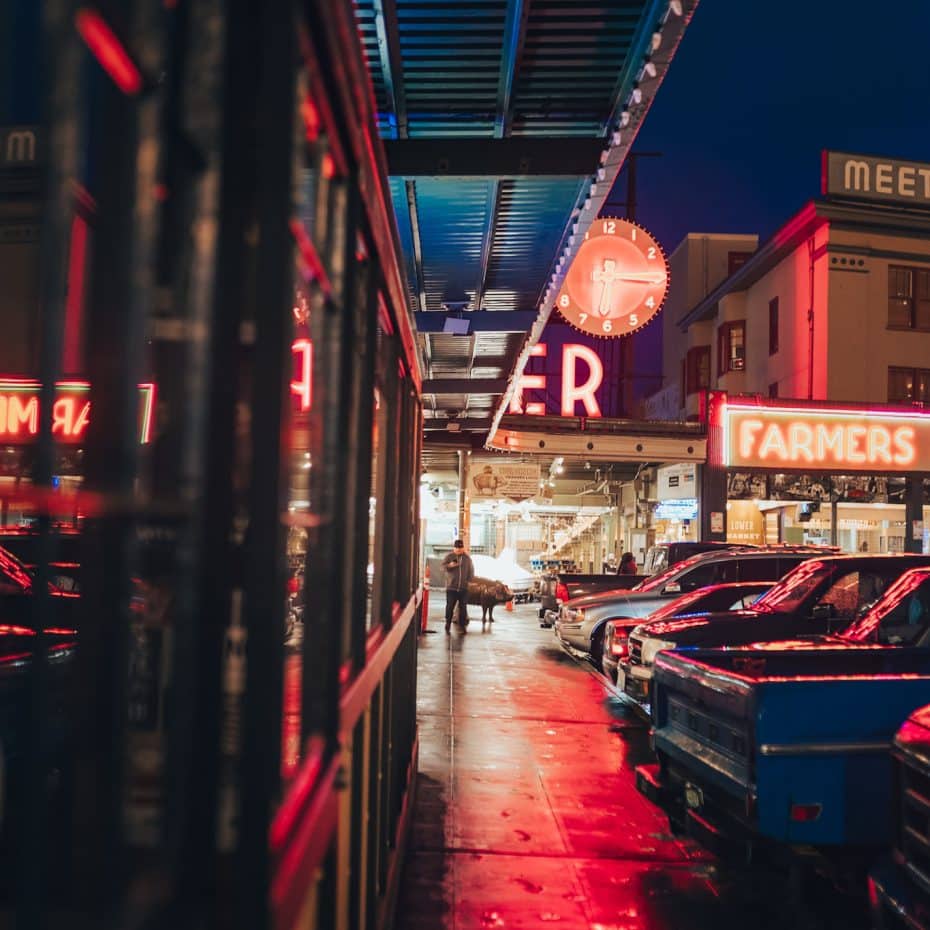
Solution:
<svg viewBox="0 0 930 930"><path fill-rule="evenodd" d="M777 581L801 562L833 551L821 546L767 546L703 552L653 575L635 591L568 601L559 610L555 635L565 648L590 656L599 668L608 620L641 620L669 598L711 584Z"/></svg>

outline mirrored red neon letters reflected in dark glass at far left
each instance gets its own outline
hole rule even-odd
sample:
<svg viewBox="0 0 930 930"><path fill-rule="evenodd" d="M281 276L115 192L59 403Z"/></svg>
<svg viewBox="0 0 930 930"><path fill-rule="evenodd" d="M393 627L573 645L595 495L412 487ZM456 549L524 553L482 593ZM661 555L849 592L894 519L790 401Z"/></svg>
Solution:
<svg viewBox="0 0 930 930"><path fill-rule="evenodd" d="M59 442L83 442L90 422L90 385L59 381L52 407L52 436ZM39 435L38 381L0 379L0 442L31 442ZM152 439L155 385L139 385L139 442Z"/></svg>

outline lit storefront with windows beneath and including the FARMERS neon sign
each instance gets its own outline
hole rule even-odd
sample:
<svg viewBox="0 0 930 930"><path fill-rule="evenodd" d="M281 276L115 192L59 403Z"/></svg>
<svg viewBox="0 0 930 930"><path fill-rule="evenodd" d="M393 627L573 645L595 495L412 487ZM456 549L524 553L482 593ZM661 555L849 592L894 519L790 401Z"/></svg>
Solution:
<svg viewBox="0 0 930 930"><path fill-rule="evenodd" d="M712 393L708 423L706 538L930 552L930 412Z"/></svg>

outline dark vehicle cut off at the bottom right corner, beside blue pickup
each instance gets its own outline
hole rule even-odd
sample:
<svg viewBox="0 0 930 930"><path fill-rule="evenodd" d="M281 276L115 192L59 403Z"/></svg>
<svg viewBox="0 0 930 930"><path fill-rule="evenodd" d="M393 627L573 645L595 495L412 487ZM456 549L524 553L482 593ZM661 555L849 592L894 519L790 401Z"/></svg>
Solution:
<svg viewBox="0 0 930 930"><path fill-rule="evenodd" d="M930 707L898 730L892 756L891 853L869 873L874 930L930 927Z"/></svg>

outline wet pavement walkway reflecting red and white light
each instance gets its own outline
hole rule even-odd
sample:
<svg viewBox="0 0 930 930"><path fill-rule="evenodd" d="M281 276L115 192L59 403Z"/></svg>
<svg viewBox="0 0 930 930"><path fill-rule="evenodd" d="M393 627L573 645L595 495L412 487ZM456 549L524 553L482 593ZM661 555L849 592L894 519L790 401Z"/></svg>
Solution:
<svg viewBox="0 0 930 930"><path fill-rule="evenodd" d="M718 863L637 791L648 726L536 606L420 636L420 773L397 930L867 927L864 899ZM473 610L475 608L472 608Z"/></svg>

